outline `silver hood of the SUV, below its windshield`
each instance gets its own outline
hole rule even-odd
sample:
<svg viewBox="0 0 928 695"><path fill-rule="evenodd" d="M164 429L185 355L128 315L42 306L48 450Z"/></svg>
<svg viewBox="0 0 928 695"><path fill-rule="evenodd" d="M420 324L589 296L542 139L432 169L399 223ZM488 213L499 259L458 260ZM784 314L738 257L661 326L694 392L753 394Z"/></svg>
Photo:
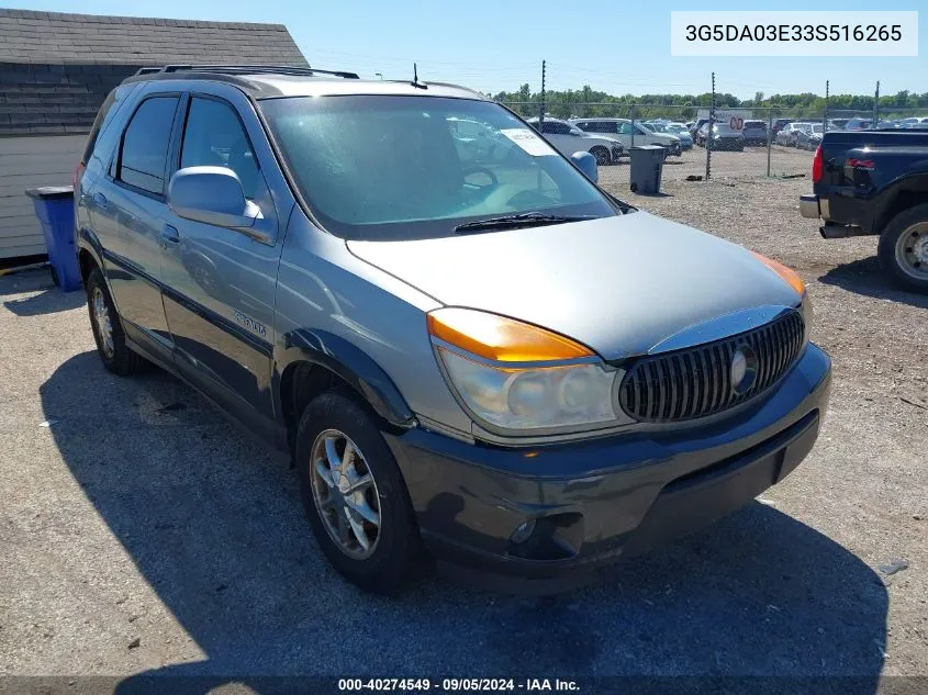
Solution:
<svg viewBox="0 0 928 695"><path fill-rule="evenodd" d="M348 242L450 306L556 330L607 360L719 316L800 298L745 248L646 212L411 242Z"/></svg>

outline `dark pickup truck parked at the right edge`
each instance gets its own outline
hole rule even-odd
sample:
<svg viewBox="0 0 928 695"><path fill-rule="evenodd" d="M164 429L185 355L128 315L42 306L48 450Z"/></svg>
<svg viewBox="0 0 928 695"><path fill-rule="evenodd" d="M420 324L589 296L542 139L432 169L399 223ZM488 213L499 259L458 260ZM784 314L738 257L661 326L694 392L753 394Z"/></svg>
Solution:
<svg viewBox="0 0 928 695"><path fill-rule="evenodd" d="M826 239L880 235L883 269L928 293L928 132L825 133L812 166L803 217L820 217Z"/></svg>

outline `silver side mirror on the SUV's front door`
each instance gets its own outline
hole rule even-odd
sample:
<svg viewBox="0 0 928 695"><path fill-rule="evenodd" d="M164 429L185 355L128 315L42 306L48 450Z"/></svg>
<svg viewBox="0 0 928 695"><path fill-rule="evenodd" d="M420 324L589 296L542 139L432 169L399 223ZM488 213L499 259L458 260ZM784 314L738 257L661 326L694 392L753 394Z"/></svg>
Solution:
<svg viewBox="0 0 928 695"><path fill-rule="evenodd" d="M168 183L168 205L180 217L249 233L261 210L245 198L238 175L225 167L179 169Z"/></svg>

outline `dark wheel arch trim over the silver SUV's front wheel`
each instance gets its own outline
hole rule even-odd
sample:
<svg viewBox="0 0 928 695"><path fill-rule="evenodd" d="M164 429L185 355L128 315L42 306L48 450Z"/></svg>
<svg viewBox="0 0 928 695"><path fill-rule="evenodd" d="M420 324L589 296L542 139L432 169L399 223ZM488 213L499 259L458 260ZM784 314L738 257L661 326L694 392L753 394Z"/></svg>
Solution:
<svg viewBox="0 0 928 695"><path fill-rule="evenodd" d="M299 328L275 346L273 384L280 402L280 384L287 368L294 362L325 367L351 385L374 412L395 427L410 429L416 419L393 380L364 350L326 330Z"/></svg>

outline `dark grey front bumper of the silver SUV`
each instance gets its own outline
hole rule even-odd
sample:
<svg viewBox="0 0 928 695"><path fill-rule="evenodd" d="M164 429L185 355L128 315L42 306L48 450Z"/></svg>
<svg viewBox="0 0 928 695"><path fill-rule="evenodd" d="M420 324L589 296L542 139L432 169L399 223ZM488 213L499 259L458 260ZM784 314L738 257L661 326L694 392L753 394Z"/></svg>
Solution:
<svg viewBox="0 0 928 695"><path fill-rule="evenodd" d="M818 436L830 366L809 345L760 403L685 429L526 448L470 445L422 429L388 441L439 567L503 591L563 591L783 480ZM533 520L530 537L514 540Z"/></svg>

